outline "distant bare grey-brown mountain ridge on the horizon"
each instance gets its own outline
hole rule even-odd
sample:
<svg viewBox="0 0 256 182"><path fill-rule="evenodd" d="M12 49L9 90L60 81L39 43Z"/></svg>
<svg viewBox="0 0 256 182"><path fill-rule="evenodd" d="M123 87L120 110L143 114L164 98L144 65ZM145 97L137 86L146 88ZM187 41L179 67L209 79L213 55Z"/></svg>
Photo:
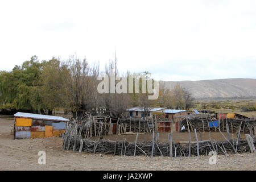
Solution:
<svg viewBox="0 0 256 182"><path fill-rule="evenodd" d="M179 83L195 98L256 97L256 79L229 78L200 81L160 81L166 88L173 89Z"/></svg>

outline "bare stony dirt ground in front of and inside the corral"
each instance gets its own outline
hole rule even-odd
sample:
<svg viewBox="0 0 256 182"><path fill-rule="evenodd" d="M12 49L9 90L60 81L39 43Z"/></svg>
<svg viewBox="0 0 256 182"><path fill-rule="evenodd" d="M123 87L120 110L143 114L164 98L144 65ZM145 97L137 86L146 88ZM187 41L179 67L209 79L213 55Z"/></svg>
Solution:
<svg viewBox="0 0 256 182"><path fill-rule="evenodd" d="M217 164L208 163L209 156L200 158L169 158L146 156L114 156L88 154L82 152L64 151L61 149L62 139L34 138L13 139L11 127L14 118L0 115L0 170L256 170L254 154L238 154L217 156ZM192 139L193 139L192 133ZM218 139L220 134L211 133L212 139ZM109 139L122 139L122 135L108 136ZM141 135L140 140L152 137L151 134ZM216 137L216 138L215 138ZM243 137L243 136L242 136ZM175 133L174 140L186 141L186 133ZM199 134L200 138L200 134ZM134 141L135 135L129 135L127 140ZM161 142L167 140L167 134L160 133ZM202 139L209 139L205 133ZM46 165L38 164L38 152L46 152Z"/></svg>

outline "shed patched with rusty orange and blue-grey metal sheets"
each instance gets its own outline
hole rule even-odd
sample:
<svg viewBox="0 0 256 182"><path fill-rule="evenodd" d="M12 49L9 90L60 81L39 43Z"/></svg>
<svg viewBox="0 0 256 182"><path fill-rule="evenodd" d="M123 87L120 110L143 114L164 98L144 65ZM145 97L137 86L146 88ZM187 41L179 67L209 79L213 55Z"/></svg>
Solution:
<svg viewBox="0 0 256 182"><path fill-rule="evenodd" d="M14 139L60 137L69 121L63 117L20 112L14 117Z"/></svg>

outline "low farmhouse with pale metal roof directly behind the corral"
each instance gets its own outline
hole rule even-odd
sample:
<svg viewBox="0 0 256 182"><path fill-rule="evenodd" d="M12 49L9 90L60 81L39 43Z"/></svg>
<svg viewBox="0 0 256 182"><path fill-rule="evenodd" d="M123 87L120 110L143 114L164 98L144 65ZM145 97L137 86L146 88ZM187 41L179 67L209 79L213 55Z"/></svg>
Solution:
<svg viewBox="0 0 256 182"><path fill-rule="evenodd" d="M126 109L126 111L129 111L129 115L130 117L140 117L140 118L152 118L153 117L153 112L155 111L159 111L159 110L163 110L166 109L165 107L154 107L154 108L150 108L148 110L148 113L146 116L144 116L144 109L142 107L133 107L131 109Z"/></svg>

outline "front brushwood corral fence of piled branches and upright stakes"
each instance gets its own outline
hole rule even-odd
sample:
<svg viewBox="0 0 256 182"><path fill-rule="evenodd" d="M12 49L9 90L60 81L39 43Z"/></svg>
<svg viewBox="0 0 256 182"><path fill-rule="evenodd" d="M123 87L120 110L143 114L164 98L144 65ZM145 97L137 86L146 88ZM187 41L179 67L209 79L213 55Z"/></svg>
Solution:
<svg viewBox="0 0 256 182"><path fill-rule="evenodd" d="M111 141L100 138L93 141L86 138L86 130L83 130L84 128L87 128L88 131L89 125L89 122L86 122L85 124L78 123L77 121L70 122L63 137L64 150L84 151L94 154L170 156L170 147L172 146L172 156L175 157L189 156L189 146L191 149L191 156L208 155L210 151L215 151L217 154L223 155L250 152L248 141L241 139L241 137L238 137L238 140L234 138L225 138L226 140L224 141L205 140L198 143L191 142L190 145L184 142L172 142L172 145L170 142L159 143L158 134L156 137L152 137L151 142L137 142L137 139L135 142L127 142L126 140ZM82 135L82 131L85 131L85 134ZM98 136L100 137L100 134ZM256 144L255 138L251 137L250 144Z"/></svg>

